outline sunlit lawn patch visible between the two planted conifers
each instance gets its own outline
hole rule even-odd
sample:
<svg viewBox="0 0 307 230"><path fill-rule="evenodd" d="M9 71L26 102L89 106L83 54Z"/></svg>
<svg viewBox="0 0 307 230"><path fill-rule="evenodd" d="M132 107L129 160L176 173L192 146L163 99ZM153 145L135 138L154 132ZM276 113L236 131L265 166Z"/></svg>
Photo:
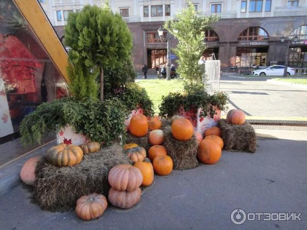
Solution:
<svg viewBox="0 0 307 230"><path fill-rule="evenodd" d="M180 80L136 80L141 87L145 88L148 96L152 100L155 113L159 113L159 105L162 101L162 96L168 95L170 92L183 90L183 82Z"/></svg>

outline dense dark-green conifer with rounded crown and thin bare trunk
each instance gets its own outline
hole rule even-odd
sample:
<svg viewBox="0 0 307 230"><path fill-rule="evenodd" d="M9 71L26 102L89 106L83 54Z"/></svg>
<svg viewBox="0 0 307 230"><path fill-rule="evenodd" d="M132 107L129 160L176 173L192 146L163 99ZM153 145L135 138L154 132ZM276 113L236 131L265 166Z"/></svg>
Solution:
<svg viewBox="0 0 307 230"><path fill-rule="evenodd" d="M133 44L127 25L108 4L103 8L85 6L82 11L69 15L65 44L71 48L70 60L81 65L83 77L98 71L103 101L103 69L130 58Z"/></svg>

